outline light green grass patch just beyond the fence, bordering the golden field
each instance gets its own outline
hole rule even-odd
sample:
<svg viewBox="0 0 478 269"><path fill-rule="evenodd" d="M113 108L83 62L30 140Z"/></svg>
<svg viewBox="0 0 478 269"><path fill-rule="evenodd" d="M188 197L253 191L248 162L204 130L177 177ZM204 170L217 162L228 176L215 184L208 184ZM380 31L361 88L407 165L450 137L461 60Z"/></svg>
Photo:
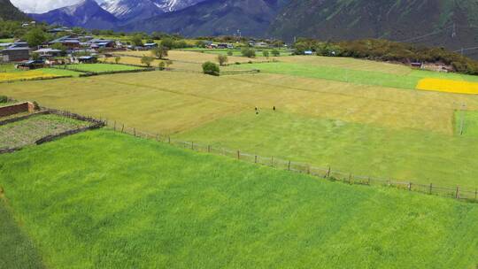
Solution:
<svg viewBox="0 0 478 269"><path fill-rule="evenodd" d="M476 122L475 119L474 125ZM466 137L457 137L279 111L261 111L259 115L251 111L174 137L323 168L331 165L333 170L355 175L386 174L396 181L450 188L460 182L461 187L474 191L478 186L478 132L471 124ZM221 135L214 136L211 142L213 134Z"/></svg>

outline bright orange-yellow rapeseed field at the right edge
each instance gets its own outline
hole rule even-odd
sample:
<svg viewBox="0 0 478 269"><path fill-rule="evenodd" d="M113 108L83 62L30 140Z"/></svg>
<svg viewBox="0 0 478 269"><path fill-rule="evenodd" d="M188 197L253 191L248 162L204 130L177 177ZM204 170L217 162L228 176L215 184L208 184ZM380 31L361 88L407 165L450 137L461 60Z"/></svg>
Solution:
<svg viewBox="0 0 478 269"><path fill-rule="evenodd" d="M478 83L469 81L451 81L442 79L423 79L417 89L434 90L455 94L478 95Z"/></svg>

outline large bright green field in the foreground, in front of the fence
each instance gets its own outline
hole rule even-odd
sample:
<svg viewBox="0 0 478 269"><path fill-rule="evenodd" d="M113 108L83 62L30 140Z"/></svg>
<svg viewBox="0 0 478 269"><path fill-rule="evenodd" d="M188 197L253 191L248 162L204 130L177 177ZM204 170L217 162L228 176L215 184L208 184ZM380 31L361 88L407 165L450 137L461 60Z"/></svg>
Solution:
<svg viewBox="0 0 478 269"><path fill-rule="evenodd" d="M6 225L36 249L12 253L2 244L7 263L15 254L58 268L478 262L478 207L452 199L320 181L107 130L0 163L4 203L22 224Z"/></svg>

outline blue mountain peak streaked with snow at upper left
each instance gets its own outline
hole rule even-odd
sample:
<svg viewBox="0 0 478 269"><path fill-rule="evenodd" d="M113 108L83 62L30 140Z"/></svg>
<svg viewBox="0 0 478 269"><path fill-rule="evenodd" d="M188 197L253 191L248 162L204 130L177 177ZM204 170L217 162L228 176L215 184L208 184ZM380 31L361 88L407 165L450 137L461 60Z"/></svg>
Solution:
<svg viewBox="0 0 478 269"><path fill-rule="evenodd" d="M43 14L29 15L36 20L66 27L110 29L119 22L116 17L104 11L104 9L93 0L84 0L79 4L59 8Z"/></svg>

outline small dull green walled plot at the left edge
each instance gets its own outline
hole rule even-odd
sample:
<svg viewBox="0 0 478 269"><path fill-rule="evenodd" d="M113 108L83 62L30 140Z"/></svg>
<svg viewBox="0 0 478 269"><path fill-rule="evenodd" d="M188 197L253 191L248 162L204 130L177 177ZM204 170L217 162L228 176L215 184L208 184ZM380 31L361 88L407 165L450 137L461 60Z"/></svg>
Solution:
<svg viewBox="0 0 478 269"><path fill-rule="evenodd" d="M0 126L0 149L22 147L47 135L87 127L88 123L56 115L38 115Z"/></svg>

